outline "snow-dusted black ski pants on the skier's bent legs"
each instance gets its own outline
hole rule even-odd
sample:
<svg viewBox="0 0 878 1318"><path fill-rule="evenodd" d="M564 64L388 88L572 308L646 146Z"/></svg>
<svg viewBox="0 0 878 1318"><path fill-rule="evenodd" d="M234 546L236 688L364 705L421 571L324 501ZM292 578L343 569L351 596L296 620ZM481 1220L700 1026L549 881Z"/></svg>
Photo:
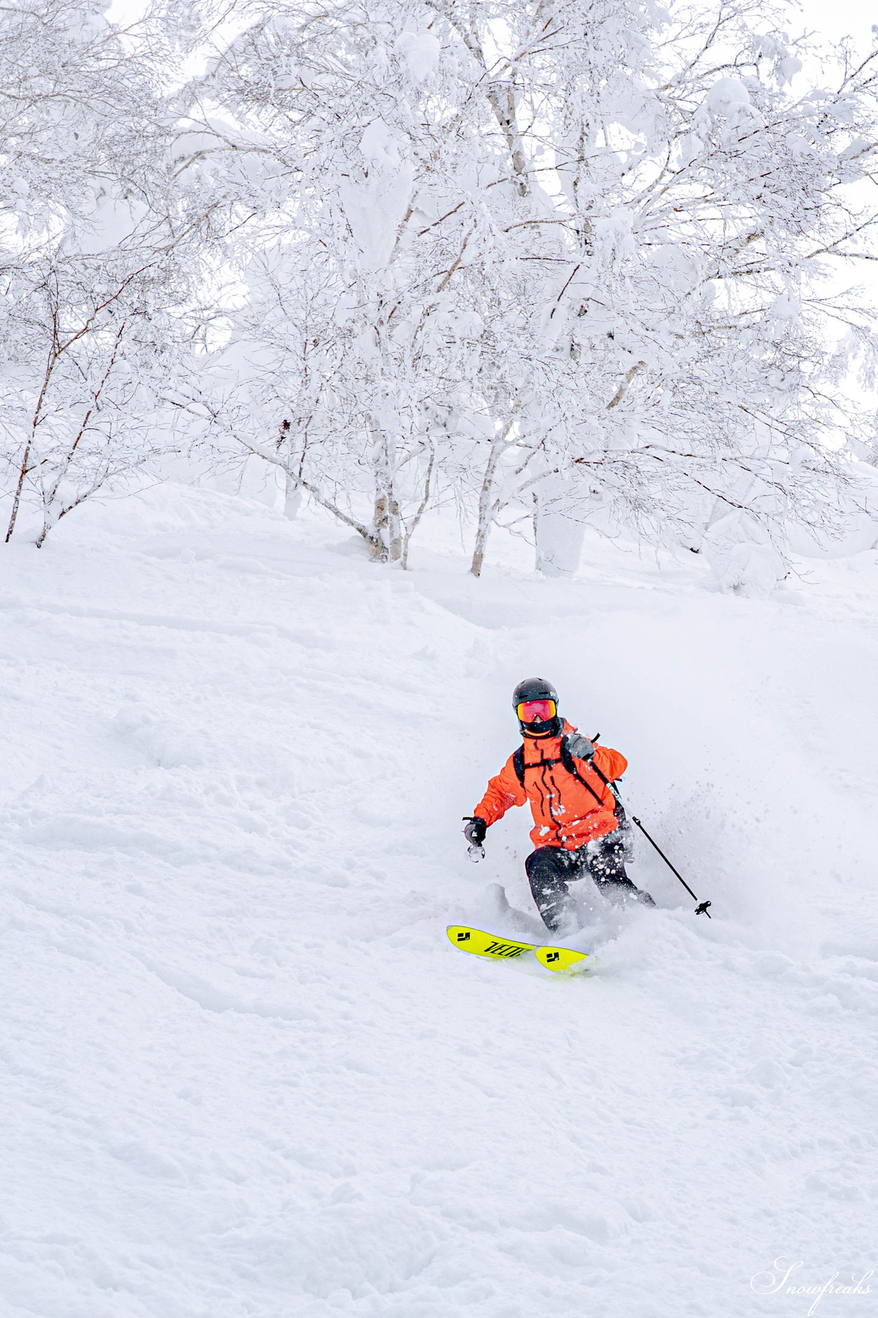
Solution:
<svg viewBox="0 0 878 1318"><path fill-rule="evenodd" d="M625 844L617 832L577 851L561 846L538 846L524 862L533 900L546 928L554 933L569 902L567 884L590 875L595 887L611 902L641 902L656 905L649 892L641 892L625 874Z"/></svg>

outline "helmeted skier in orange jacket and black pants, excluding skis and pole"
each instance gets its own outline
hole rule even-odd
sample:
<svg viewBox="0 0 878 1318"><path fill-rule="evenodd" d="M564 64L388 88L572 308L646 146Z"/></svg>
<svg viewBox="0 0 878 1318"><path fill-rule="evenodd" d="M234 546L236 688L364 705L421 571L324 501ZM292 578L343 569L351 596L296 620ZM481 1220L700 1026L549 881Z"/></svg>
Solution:
<svg viewBox="0 0 878 1318"><path fill-rule="evenodd" d="M628 768L625 757L595 746L562 718L558 692L542 677L520 681L512 708L524 742L488 782L463 829L470 846L480 846L511 805L530 801L536 851L524 869L549 929L561 925L567 884L586 875L613 902L656 905L625 874L624 812L609 787Z"/></svg>

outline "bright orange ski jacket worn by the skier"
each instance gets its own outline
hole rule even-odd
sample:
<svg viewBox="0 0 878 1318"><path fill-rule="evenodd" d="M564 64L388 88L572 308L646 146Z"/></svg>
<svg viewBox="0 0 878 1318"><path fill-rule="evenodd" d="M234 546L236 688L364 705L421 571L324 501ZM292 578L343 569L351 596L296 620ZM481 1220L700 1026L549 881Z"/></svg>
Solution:
<svg viewBox="0 0 878 1318"><path fill-rule="evenodd" d="M575 730L565 721L562 735ZM524 787L513 760L515 757L509 755L473 811L488 826L503 818L511 805L524 805L525 801L530 803L533 815L530 840L534 846L562 846L575 851L617 826L613 793L588 767L587 759L574 759L577 772L594 788L602 804L567 772L561 762L561 737L524 738ZM628 768L625 757L608 746L595 747L595 764L609 782L621 778Z"/></svg>

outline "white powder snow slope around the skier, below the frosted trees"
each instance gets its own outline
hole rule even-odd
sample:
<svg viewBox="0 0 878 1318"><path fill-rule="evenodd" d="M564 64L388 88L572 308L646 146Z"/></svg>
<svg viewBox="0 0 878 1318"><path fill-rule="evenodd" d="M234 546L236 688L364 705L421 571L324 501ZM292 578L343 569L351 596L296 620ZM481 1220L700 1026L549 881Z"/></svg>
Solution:
<svg viewBox="0 0 878 1318"><path fill-rule="evenodd" d="M875 555L750 600L430 536L162 486L3 551L4 1318L804 1315L777 1260L875 1265ZM544 941L525 812L461 836L529 675L713 903L641 847L590 977L445 936Z"/></svg>

